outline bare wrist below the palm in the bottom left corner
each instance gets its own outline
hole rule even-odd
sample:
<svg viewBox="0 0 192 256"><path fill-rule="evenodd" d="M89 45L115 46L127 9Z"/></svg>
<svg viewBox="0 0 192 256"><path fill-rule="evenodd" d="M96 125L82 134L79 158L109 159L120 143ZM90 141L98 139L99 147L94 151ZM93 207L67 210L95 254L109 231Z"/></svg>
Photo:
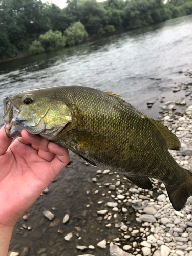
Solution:
<svg viewBox="0 0 192 256"><path fill-rule="evenodd" d="M7 256L13 227L0 227L0 252L1 256Z"/></svg>

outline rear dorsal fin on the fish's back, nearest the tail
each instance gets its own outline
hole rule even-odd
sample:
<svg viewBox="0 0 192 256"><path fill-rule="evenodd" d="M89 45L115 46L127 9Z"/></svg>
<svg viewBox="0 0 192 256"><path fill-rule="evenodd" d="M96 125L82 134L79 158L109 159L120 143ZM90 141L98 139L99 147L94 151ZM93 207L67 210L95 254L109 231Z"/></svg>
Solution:
<svg viewBox="0 0 192 256"><path fill-rule="evenodd" d="M167 147L169 150L180 150L181 144L175 134L169 131L168 128L165 127L163 124L155 121L154 119L150 118L150 121L157 127L157 129L160 131L160 133L166 140Z"/></svg>

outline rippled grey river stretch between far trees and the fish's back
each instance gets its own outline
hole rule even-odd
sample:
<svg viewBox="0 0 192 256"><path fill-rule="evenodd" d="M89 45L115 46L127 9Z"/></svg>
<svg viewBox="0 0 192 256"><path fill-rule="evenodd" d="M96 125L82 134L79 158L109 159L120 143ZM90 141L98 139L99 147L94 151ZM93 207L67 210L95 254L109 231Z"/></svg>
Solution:
<svg viewBox="0 0 192 256"><path fill-rule="evenodd" d="M146 101L162 95L174 99L169 92L181 80L178 70L192 68L191 27L190 15L3 63L0 107L3 97L23 90L81 84L120 94L147 115L157 117L159 104L147 110Z"/></svg>

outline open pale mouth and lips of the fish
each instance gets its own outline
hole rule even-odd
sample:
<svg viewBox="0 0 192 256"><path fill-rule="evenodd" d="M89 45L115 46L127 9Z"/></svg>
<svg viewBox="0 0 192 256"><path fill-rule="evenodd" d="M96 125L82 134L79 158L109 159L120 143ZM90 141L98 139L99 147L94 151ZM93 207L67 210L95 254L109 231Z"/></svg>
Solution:
<svg viewBox="0 0 192 256"><path fill-rule="evenodd" d="M20 135L20 132L24 129L24 126L17 120L19 109L11 102L10 97L3 99L4 103L4 116L3 122L5 124L5 132L7 137L14 138Z"/></svg>

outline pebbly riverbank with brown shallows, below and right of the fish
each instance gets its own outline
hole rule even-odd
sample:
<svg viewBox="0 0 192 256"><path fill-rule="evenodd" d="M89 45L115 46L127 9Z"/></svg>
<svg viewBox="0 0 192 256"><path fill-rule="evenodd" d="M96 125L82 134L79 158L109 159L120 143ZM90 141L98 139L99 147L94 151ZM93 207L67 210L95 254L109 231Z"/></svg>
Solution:
<svg viewBox="0 0 192 256"><path fill-rule="evenodd" d="M177 88L175 94L184 91L185 97L159 99L159 118L181 142L181 151L170 153L191 170L192 106L186 103L192 98L191 78ZM152 191L138 188L123 175L98 170L72 154L69 165L17 222L9 256L192 255L191 197L177 212L164 185L152 183Z"/></svg>

